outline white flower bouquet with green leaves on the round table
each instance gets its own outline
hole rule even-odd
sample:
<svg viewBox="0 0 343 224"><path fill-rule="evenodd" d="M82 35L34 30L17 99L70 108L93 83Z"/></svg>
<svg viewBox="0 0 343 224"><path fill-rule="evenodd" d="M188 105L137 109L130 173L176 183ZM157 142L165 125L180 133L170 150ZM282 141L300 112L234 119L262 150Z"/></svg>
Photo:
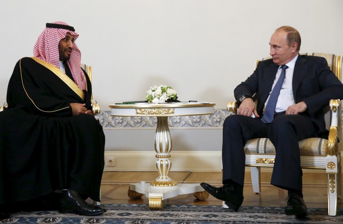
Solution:
<svg viewBox="0 0 343 224"><path fill-rule="evenodd" d="M152 86L148 91L146 91L145 99L151 103L171 103L176 102L178 96L175 89L166 85Z"/></svg>

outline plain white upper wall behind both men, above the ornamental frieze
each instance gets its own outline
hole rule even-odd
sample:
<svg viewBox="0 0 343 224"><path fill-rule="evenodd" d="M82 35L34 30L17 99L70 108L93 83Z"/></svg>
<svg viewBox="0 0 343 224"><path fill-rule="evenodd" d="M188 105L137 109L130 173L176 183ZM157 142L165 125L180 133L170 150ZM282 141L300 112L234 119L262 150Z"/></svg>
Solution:
<svg viewBox="0 0 343 224"><path fill-rule="evenodd" d="M32 56L45 23L62 20L80 34L103 110L143 100L155 84L225 108L255 59L268 56L277 27L298 29L301 52L343 54L342 9L341 0L2 0L0 102L16 61Z"/></svg>

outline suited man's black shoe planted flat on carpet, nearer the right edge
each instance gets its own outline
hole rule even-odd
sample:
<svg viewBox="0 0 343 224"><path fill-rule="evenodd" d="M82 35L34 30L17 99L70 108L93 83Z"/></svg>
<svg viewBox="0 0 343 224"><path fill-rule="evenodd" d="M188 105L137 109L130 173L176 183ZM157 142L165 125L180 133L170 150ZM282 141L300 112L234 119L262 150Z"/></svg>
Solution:
<svg viewBox="0 0 343 224"><path fill-rule="evenodd" d="M305 218L308 215L305 201L301 196L297 194L289 194L286 197L286 200L286 215L295 215L296 218Z"/></svg>

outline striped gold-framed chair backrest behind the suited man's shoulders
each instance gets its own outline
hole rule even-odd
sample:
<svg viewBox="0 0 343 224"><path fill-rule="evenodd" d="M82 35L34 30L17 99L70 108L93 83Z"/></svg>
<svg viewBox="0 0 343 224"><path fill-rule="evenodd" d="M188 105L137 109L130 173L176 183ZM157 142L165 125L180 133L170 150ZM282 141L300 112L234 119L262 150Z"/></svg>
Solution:
<svg viewBox="0 0 343 224"><path fill-rule="evenodd" d="M301 55L312 55L312 56L320 56L324 57L328 61L328 65L331 69L331 71L337 76L337 78L342 81L342 65L343 65L343 58L341 55L334 55L334 54L328 54L328 53L300 53ZM261 60L256 60L255 62L255 68L259 61L270 59L271 56L262 58ZM341 99L343 100L343 99ZM329 103L329 102L328 102ZM325 113L325 124L326 128L329 130L330 128L330 107L329 105L324 108Z"/></svg>

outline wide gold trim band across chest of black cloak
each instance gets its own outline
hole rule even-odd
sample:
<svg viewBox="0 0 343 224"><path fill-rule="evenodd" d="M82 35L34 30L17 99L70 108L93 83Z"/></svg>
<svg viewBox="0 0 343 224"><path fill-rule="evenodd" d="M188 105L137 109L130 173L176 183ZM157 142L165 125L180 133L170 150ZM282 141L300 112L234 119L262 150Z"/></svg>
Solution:
<svg viewBox="0 0 343 224"><path fill-rule="evenodd" d="M82 99L84 100L84 93L82 91L82 89L80 89L78 87L78 85L71 80L66 74L64 74L60 69L58 69L56 66L40 60L39 58L36 57L31 57L33 60L35 60L37 63L45 66L47 69L49 69L51 72L53 72L56 76L58 76L58 78L60 78L63 82L65 82L71 89L73 89L73 91Z"/></svg>

